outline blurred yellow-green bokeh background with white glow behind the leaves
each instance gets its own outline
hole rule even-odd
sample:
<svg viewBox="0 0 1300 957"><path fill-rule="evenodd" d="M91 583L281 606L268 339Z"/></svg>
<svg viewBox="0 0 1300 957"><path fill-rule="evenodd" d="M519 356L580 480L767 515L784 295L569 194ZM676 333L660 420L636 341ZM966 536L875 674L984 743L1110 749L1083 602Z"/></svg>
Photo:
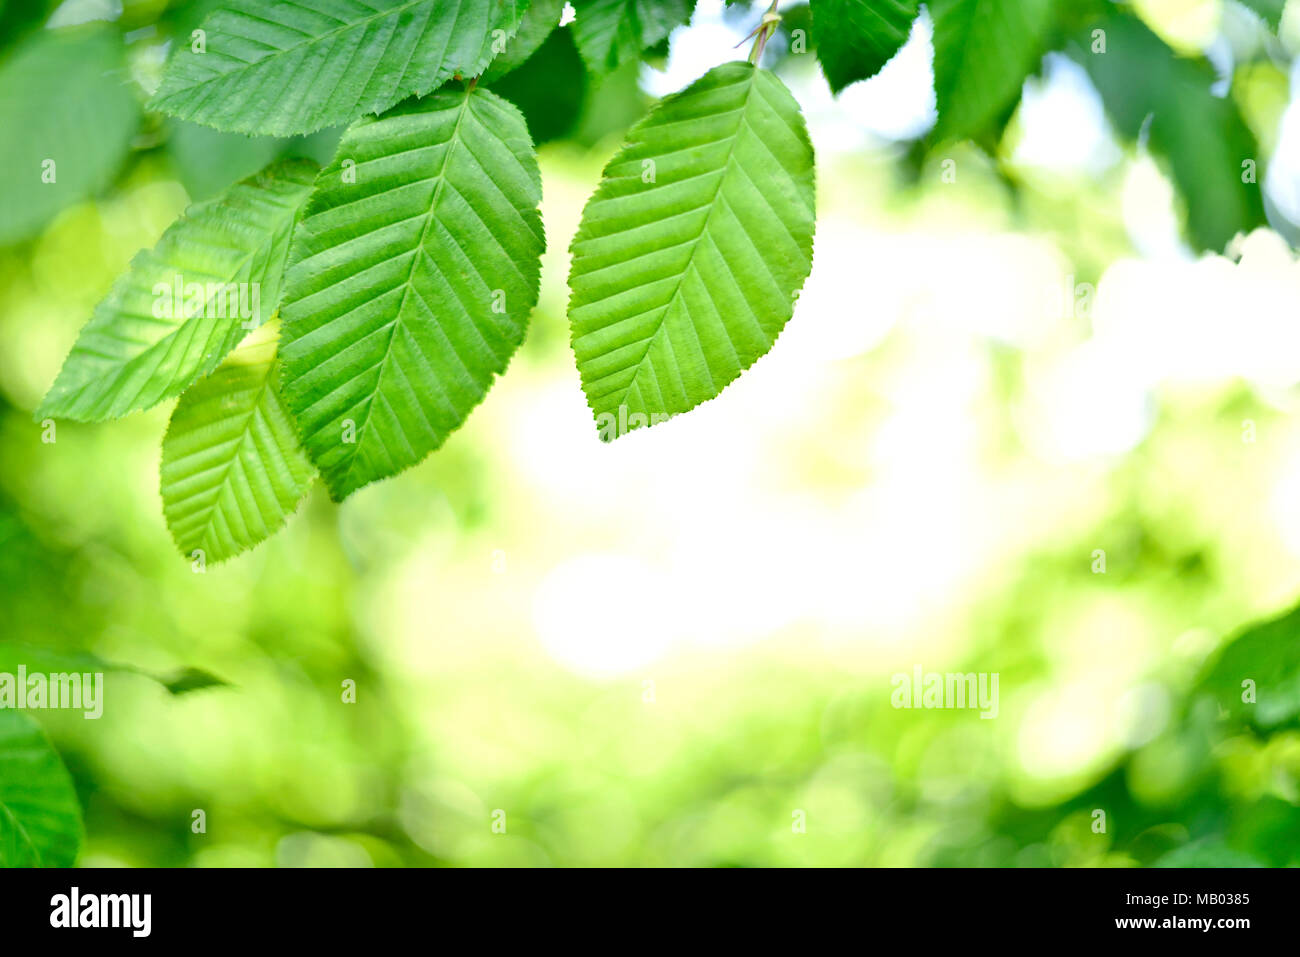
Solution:
<svg viewBox="0 0 1300 957"><path fill-rule="evenodd" d="M0 4L0 69L43 23L109 20L143 101L212 5ZM0 248L0 638L229 683L112 674L101 720L40 715L81 863L1300 865L1300 732L1202 683L1300 596L1300 9L1270 39L1230 0L1138 7L1227 64L1271 229L1195 252L1167 170L1065 57L992 153L919 148L924 21L835 100L783 4L812 276L722 397L611 445L568 348L568 241L627 126L758 12L701 0L601 83L562 30L498 87L542 140L550 247L507 374L420 467L342 506L316 488L202 575L162 521L169 406L53 443L31 410L190 202L337 133L146 114L107 190ZM996 672L996 719L892 707L918 664Z"/></svg>

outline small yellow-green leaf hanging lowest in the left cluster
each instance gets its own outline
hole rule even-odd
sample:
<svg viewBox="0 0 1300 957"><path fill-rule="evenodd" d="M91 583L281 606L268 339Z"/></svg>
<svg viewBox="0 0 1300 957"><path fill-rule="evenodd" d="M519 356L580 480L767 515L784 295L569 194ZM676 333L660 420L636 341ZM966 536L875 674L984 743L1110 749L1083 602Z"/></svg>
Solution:
<svg viewBox="0 0 1300 957"><path fill-rule="evenodd" d="M162 439L162 514L181 554L224 562L277 532L312 480L280 397L272 320L177 403Z"/></svg>

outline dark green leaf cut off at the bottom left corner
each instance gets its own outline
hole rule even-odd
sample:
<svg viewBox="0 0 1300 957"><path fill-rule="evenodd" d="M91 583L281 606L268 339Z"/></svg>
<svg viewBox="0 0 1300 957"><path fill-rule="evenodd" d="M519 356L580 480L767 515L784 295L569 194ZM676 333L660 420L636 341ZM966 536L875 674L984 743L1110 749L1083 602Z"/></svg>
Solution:
<svg viewBox="0 0 1300 957"><path fill-rule="evenodd" d="M70 867L81 841L68 770L38 724L0 709L0 867Z"/></svg>

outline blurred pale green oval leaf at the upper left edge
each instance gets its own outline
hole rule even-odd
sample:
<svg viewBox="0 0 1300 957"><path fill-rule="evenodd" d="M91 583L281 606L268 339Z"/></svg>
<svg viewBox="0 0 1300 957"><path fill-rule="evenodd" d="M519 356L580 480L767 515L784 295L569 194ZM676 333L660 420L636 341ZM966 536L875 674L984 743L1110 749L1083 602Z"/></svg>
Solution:
<svg viewBox="0 0 1300 957"><path fill-rule="evenodd" d="M0 65L0 243L113 181L140 120L126 79L122 38L100 25L39 30Z"/></svg>

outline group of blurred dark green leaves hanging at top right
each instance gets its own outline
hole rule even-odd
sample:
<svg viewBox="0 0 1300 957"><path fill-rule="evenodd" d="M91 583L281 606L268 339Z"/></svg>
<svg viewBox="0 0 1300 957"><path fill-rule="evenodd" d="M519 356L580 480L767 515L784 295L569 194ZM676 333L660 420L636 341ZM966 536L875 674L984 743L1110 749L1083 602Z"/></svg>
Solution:
<svg viewBox="0 0 1300 957"><path fill-rule="evenodd" d="M874 75L907 39L919 0L814 0L812 39L836 91ZM1277 33L1282 0L1244 0ZM991 152L1043 57L1062 53L1088 73L1114 131L1169 169L1191 241L1222 251L1266 224L1264 163L1219 69L1173 49L1126 3L928 0L937 121L931 151L971 140ZM1245 165L1251 176L1243 176Z"/></svg>

